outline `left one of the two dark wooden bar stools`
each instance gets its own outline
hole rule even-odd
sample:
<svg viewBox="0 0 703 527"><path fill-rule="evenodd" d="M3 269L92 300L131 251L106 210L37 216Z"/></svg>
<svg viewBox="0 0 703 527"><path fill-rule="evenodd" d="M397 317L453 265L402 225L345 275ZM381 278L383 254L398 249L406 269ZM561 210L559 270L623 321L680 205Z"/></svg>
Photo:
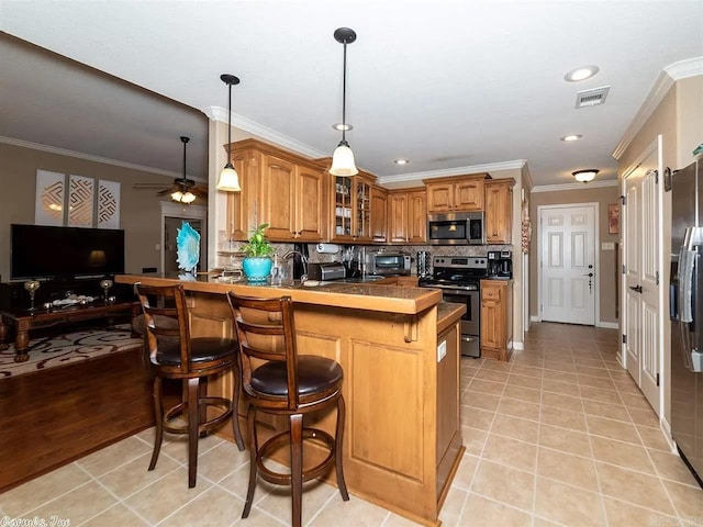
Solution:
<svg viewBox="0 0 703 527"><path fill-rule="evenodd" d="M239 372L237 343L231 338L191 338L188 306L182 285L153 287L136 284L135 291L144 314L145 347L154 369L154 412L156 437L148 470L154 470L164 440L164 431L188 435L188 486L196 486L198 437L204 437L232 416L234 438L239 450L244 441L237 419ZM207 395L208 377L232 371L232 397ZM179 404L164 412L163 381L178 379L183 393ZM216 408L208 418L208 408ZM212 411L210 413L212 415ZM186 423L176 423L177 417Z"/></svg>

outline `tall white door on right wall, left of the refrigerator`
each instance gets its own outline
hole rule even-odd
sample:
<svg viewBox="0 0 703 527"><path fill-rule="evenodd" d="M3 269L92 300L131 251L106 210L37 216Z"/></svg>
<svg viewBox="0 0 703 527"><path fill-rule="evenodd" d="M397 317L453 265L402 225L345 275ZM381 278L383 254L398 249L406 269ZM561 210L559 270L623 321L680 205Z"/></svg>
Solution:
<svg viewBox="0 0 703 527"><path fill-rule="evenodd" d="M625 179L625 356L627 371L657 414L662 330L658 149Z"/></svg>

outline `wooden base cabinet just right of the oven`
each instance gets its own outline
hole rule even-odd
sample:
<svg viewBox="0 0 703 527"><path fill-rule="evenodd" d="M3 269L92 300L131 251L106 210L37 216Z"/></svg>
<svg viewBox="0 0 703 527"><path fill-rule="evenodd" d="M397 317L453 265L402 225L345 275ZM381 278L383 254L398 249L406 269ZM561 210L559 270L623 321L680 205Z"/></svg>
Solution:
<svg viewBox="0 0 703 527"><path fill-rule="evenodd" d="M513 281L481 280L481 355L507 361L512 340Z"/></svg>

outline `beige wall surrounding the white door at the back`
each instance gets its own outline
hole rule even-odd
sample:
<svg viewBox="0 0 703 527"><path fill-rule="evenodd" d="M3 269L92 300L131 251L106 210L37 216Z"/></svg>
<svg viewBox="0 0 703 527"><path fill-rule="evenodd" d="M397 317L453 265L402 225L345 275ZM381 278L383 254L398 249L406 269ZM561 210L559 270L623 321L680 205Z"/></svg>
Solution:
<svg viewBox="0 0 703 527"><path fill-rule="evenodd" d="M617 187L589 187L583 186L582 190L560 190L553 192L535 192L533 190L529 199L529 217L532 220L532 243L529 245L529 260L534 262L529 269L529 314L531 316L539 316L539 292L538 292L538 272L539 272L539 214L540 205L559 205L571 203L598 203L598 226L599 243L612 242L617 247L617 235L607 233L607 205L618 202L620 192ZM602 250L601 246L595 248L598 267L595 272L599 279L600 295L600 319L596 324L617 323L615 316L615 291L616 291L616 269L615 260L617 250Z"/></svg>

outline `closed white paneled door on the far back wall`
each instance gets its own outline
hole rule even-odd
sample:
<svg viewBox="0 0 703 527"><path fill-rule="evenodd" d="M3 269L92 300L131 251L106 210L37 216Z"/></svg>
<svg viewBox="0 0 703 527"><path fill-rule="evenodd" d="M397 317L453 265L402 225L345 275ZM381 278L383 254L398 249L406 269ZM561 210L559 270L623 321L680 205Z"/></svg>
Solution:
<svg viewBox="0 0 703 527"><path fill-rule="evenodd" d="M595 325L595 205L539 208L542 319Z"/></svg>

